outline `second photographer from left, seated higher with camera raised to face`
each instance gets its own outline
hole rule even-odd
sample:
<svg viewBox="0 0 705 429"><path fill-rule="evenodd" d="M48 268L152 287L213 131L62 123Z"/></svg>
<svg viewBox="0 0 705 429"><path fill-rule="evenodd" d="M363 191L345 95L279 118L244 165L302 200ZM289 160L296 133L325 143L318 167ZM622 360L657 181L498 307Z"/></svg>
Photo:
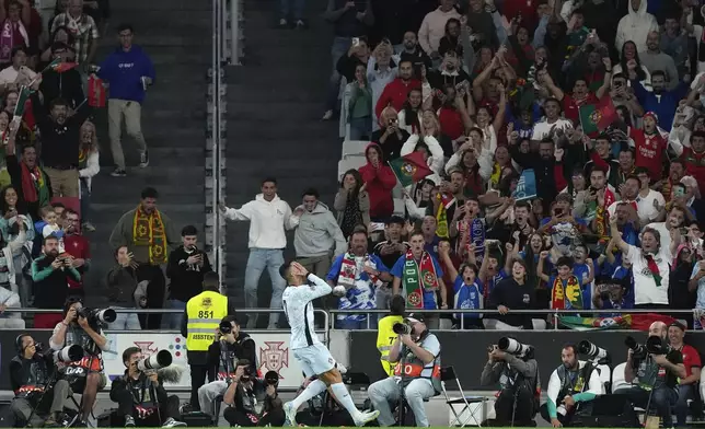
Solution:
<svg viewBox="0 0 705 429"><path fill-rule="evenodd" d="M82 392L83 421L93 409L97 392L106 383L102 351L109 349L109 343L100 323L96 312L84 309L80 298L69 298L63 305L63 321L56 325L49 338L49 347L56 351L74 344L83 348L83 359L59 363L59 371L71 383L73 392Z"/></svg>

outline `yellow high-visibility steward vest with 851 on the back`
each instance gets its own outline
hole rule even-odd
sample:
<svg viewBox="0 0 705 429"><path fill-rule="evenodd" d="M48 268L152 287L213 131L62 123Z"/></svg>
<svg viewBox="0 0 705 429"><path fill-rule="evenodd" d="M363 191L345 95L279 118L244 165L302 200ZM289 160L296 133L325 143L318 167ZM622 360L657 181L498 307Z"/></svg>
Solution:
<svg viewBox="0 0 705 429"><path fill-rule="evenodd" d="M186 349L207 351L216 340L216 329L228 315L228 297L206 290L186 304Z"/></svg>

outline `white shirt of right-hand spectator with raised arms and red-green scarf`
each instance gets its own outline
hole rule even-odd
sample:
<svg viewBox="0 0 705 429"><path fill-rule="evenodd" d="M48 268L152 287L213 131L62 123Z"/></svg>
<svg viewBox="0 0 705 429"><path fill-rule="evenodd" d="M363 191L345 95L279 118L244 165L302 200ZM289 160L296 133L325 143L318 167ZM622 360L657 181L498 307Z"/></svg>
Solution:
<svg viewBox="0 0 705 429"><path fill-rule="evenodd" d="M669 282L669 262L671 258L663 252L668 248L662 244L659 253L654 256L654 260L661 275L661 286L656 286L656 280L649 270L648 263L639 247L629 246L626 256L632 262L632 273L634 275L634 303L638 304L668 304L668 282ZM670 253L670 252L669 252Z"/></svg>

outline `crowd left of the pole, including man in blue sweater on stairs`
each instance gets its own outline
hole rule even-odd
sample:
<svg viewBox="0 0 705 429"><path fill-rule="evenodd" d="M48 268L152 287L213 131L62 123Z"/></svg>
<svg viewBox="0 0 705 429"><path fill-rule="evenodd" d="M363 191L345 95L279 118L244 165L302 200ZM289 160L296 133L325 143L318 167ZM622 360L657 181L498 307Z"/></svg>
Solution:
<svg viewBox="0 0 705 429"><path fill-rule="evenodd" d="M92 266L90 232L95 231L92 178L100 172L97 108L107 107L112 175L127 175L123 123L137 142L138 167L149 165L140 123L154 68L148 54L132 44L129 24L114 26L115 48L99 58L109 16L107 0L0 0L2 328L54 327L61 314L7 310L61 309L67 297L84 294ZM180 234L158 209L155 189L146 187L141 199L135 197L137 208L111 234L114 268L100 274L95 287L107 290L115 308L181 309L164 321L166 327L180 326L186 301L199 293L203 274L211 270L208 257L196 246L195 227L186 225ZM169 294L165 276L172 278ZM161 318L119 313L109 327L159 328Z"/></svg>

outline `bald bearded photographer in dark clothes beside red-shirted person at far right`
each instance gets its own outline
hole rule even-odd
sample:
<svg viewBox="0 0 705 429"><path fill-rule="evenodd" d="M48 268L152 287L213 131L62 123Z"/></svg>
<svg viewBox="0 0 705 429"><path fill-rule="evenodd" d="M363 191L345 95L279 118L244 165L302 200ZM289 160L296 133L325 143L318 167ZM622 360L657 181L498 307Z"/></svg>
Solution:
<svg viewBox="0 0 705 429"><path fill-rule="evenodd" d="M647 407L650 402L661 418L663 427L673 426L671 407L678 401L678 380L685 379L685 366L680 350L671 348L666 341L667 326L654 322L649 326L647 345L639 345L627 338L626 367L624 380L632 387L621 389L615 394L627 395L637 407ZM638 380L637 380L638 378Z"/></svg>

